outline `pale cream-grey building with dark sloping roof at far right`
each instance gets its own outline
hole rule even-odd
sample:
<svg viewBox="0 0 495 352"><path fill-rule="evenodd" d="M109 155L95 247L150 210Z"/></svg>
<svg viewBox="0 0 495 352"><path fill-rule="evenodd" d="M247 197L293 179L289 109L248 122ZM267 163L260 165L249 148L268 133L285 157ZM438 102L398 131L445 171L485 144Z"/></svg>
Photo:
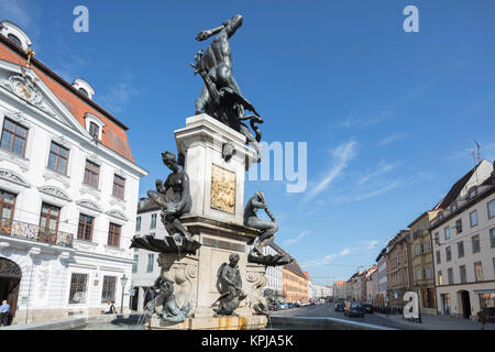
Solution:
<svg viewBox="0 0 495 352"><path fill-rule="evenodd" d="M480 167L483 164L479 164ZM437 311L474 319L495 307L495 177L474 173L431 221ZM486 174L484 174L486 175ZM464 177L465 178L465 177ZM462 180L462 179L461 179ZM465 180L465 179L464 179ZM469 185L466 187L466 185Z"/></svg>

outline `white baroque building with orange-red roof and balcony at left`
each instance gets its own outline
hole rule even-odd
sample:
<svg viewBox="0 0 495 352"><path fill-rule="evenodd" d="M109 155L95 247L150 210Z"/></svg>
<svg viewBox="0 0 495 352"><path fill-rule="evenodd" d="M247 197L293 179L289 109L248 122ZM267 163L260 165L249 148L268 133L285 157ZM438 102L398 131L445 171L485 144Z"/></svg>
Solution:
<svg viewBox="0 0 495 352"><path fill-rule="evenodd" d="M122 296L128 308L147 173L89 84L66 82L30 45L0 22L0 299L13 323L100 314L106 300L120 310Z"/></svg>

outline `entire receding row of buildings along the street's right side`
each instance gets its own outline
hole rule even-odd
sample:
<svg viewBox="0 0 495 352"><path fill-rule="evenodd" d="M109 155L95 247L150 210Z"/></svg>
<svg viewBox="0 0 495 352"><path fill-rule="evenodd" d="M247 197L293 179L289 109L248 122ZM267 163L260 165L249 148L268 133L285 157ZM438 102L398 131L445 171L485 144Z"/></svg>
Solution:
<svg viewBox="0 0 495 352"><path fill-rule="evenodd" d="M400 230L376 265L334 283L336 298L403 307L406 292L421 312L474 318L495 307L495 172L483 160L431 209Z"/></svg>

